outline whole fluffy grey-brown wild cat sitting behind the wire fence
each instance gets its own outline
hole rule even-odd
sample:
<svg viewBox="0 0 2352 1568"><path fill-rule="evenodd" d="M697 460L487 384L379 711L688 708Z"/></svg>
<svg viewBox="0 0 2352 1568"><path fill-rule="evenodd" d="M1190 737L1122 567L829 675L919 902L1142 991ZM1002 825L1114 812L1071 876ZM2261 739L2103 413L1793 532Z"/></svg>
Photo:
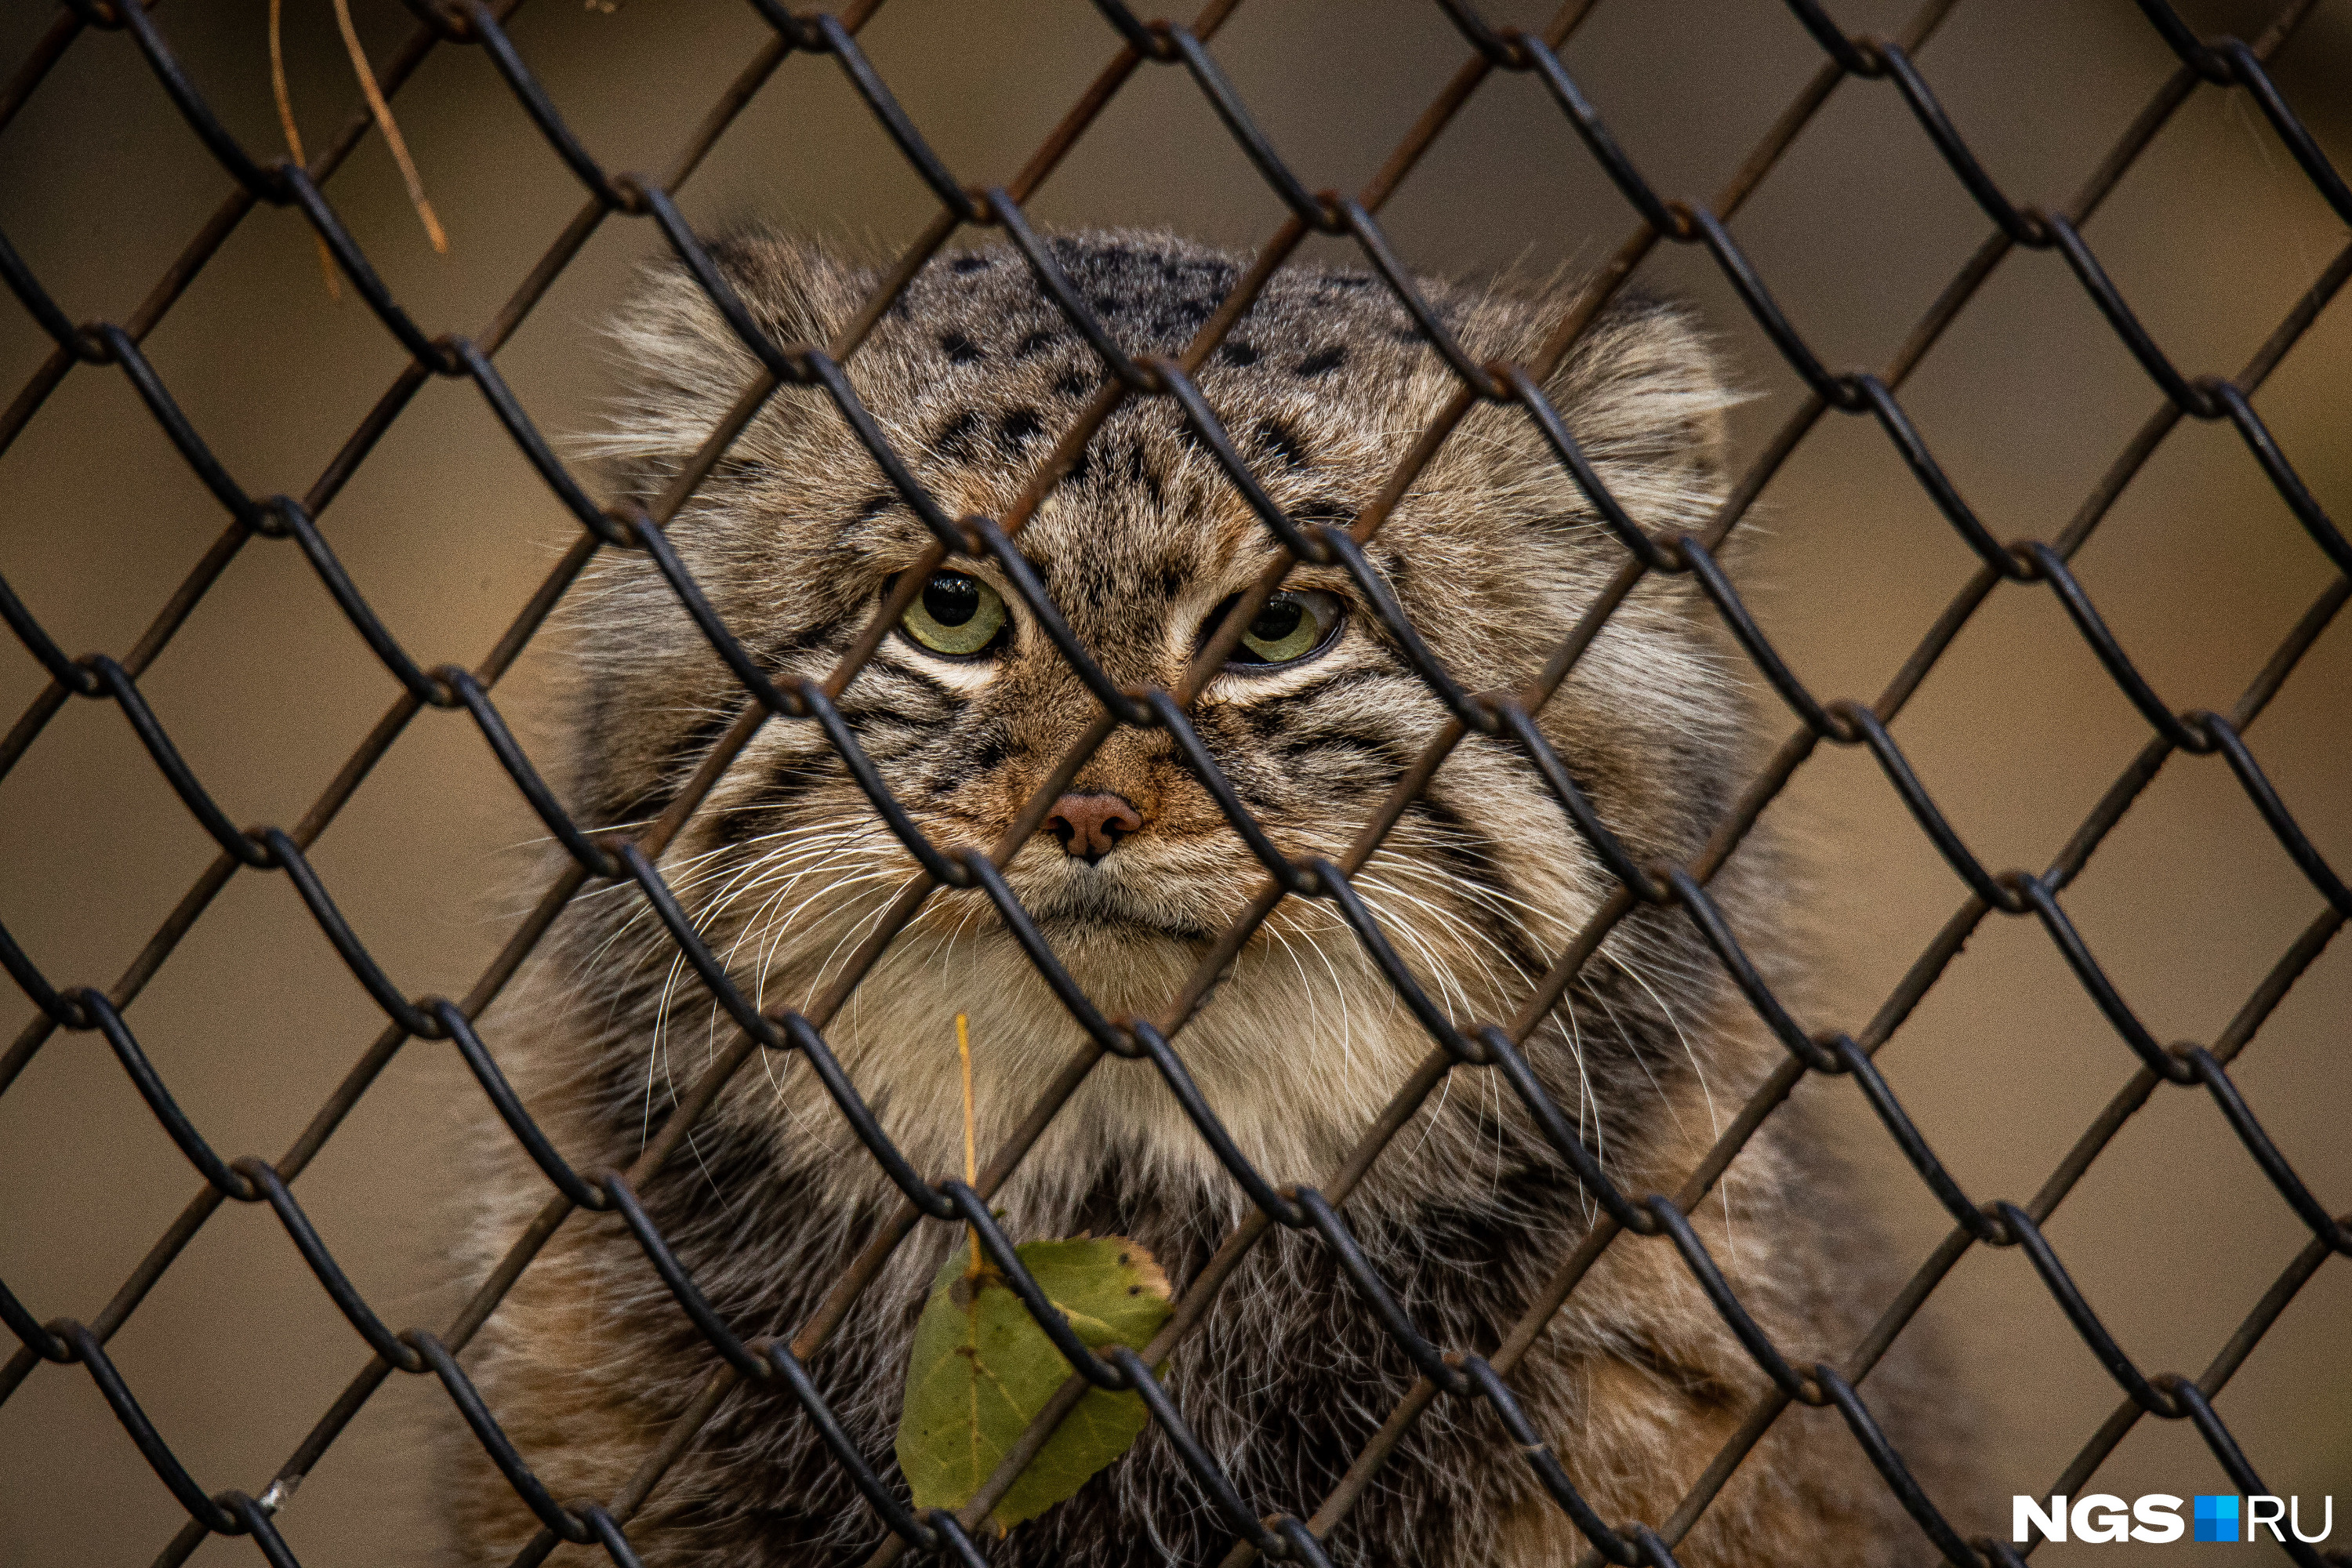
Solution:
<svg viewBox="0 0 2352 1568"><path fill-rule="evenodd" d="M1240 266L1162 235L1056 240L1131 353L1174 353ZM779 341L826 341L873 280L818 252L748 240L724 263ZM1526 357L1557 301L1425 284L1477 355ZM652 494L717 423L753 364L675 275L623 320L633 393L607 454ZM1098 386L1087 346L1009 252L929 266L851 362L861 395L948 512L1002 515ZM1289 268L1211 355L1202 390L1272 496L1350 517L1454 390L1364 273ZM1550 386L1616 496L1651 529L1691 527L1719 489L1724 393L1672 310L1625 308ZM670 529L753 654L823 675L924 529L814 393L781 393ZM1202 625L1272 545L1164 400L1131 400L1021 534L1023 552L1112 679L1174 686ZM1524 682L1623 559L1526 421L1472 411L1371 545L1397 599L1470 689ZM894 632L840 708L941 846L993 844L1098 708L1014 595L981 651L993 567ZM938 578L934 578L938 581ZM1350 609L1343 571L1301 567L1296 614L1261 621L1268 658L1216 679L1195 724L1294 858L1338 856L1444 724L1428 689ZM960 611L978 611L957 621ZM1296 635L1284 642L1284 616ZM1324 625L1327 616L1336 616ZM1312 625L1310 625L1312 623ZM927 628L927 630L924 630ZM1322 628L1322 630L1317 630ZM922 637L934 637L931 651ZM1329 632L1329 635L1324 635ZM1308 646L1322 635L1317 646ZM574 802L593 823L656 813L741 703L642 559L590 588ZM1301 651L1305 649L1305 651ZM1251 654L1244 654L1251 656ZM1602 816L1653 858L1689 858L1752 764L1736 661L1686 583L1642 588L1545 708L1543 726ZM1160 1011L1263 872L1157 731L1120 729L1077 773L1082 799L1007 867L1105 1013ZM1091 804L1089 804L1091 802ZM1105 804L1110 802L1110 804ZM1089 816L1091 813L1091 816ZM1769 950L1769 846L1717 879ZM1755 870L1762 865L1762 872ZM913 872L814 724L771 719L663 858L687 910L764 1009L802 1009ZM1472 736L1367 863L1357 889L1458 1023L1501 1023L1602 903L1609 879L1534 771ZM1762 917L1762 919L1757 919ZM557 1147L626 1166L724 1046L691 973L633 891L593 893L492 1039ZM828 1025L842 1065L917 1171L962 1171L955 1013L971 1016L983 1159L1080 1044L978 891L938 891ZM1176 1037L1240 1150L1277 1185L1322 1185L1428 1056L1430 1039L1329 905L1284 900ZM1672 1190L1773 1046L1679 912L1637 910L1529 1041L1630 1192ZM1790 1359L1842 1356L1884 1300L1858 1215L1783 1107L1696 1215L1745 1305ZM506 1154L485 1218L499 1251L543 1199ZM649 1182L644 1204L743 1338L790 1335L896 1201L804 1063L762 1058ZM1181 1291L1244 1199L1148 1065L1105 1060L1007 1182L1016 1239L1091 1229L1150 1248ZM1392 1140L1348 1222L1418 1328L1491 1352L1595 1218L1491 1072L1463 1070ZM866 1458L891 1474L903 1356L955 1234L920 1227L811 1359ZM576 1215L482 1333L492 1410L557 1497L612 1495L708 1371L710 1347L614 1218ZM1903 1408L1900 1361L1872 1375ZM1411 1366L1312 1234L1275 1229L1225 1284L1167 1387L1251 1509L1305 1516L1411 1382ZM1661 1523L1766 1389L1661 1239L1621 1239L1510 1378L1569 1474L1611 1521ZM1936 1436L1915 1441L1915 1453ZM534 1521L470 1441L463 1561L506 1561ZM663 1568L856 1563L882 1530L781 1387L727 1396L630 1526ZM995 1563L1214 1563L1230 1530L1157 1432L1068 1505L988 1547ZM1439 1401L1334 1535L1336 1561L1536 1568L1583 1549L1482 1403ZM1832 1413L1790 1410L1689 1535L1691 1568L1879 1568L1917 1535Z"/></svg>

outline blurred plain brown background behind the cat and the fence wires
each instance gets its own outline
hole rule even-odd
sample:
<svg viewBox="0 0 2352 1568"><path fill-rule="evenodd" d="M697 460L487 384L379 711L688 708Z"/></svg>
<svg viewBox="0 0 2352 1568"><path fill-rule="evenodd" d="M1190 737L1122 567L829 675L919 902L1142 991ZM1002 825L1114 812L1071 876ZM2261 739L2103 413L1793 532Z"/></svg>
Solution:
<svg viewBox="0 0 2352 1568"><path fill-rule="evenodd" d="M379 59L407 35L360 0ZM1505 7L1489 7L1503 16ZM1905 7L1839 0L1849 31ZM2253 35L2267 7L2187 7ZM14 66L49 21L0 9ZM278 148L259 0L169 0L162 26L219 113ZM1524 21L1536 12L1519 7ZM762 28L731 0L532 0L515 40L612 169L668 162ZM866 47L967 181L1016 169L1112 33L1080 0L894 0ZM1216 42L1310 186L1357 186L1463 59L1430 5L1254 0ZM358 103L327 0L289 0L287 59L313 146ZM1566 52L1658 188L1712 193L1818 52L1771 0L1606 0ZM2126 0L1962 0L1922 66L2020 200L2058 202L2171 71ZM2352 0L2321 0L2279 80L2352 167ZM397 96L452 252L435 256L381 143L329 183L358 240L428 331L477 331L579 207L492 63L440 49ZM228 183L125 35L87 35L0 134L0 228L75 320L122 320ZM934 212L823 59L790 59L687 190L701 226L771 219L891 252ZM1181 71L1145 68L1033 207L1047 223L1164 223L1254 244L1279 221ZM1592 263L1630 228L1566 122L1526 78L1496 78L1385 212L1411 263ZM1736 223L1832 367L1882 364L1987 223L1889 85L1842 87ZM2089 226L2119 287L2190 371L2234 371L2345 244L2244 94L2201 89ZM501 355L543 428L595 416L595 324L656 249L612 221ZM1661 252L1642 282L1696 299L1755 400L1750 458L1797 402L1703 256ZM0 386L47 341L0 308ZM148 339L195 425L254 494L301 494L402 355L332 303L301 221L254 212ZM2326 310L2258 407L2321 503L2352 520L2352 306ZM1905 393L1994 534L2053 536L2157 407L2157 393L2053 254L2018 254ZM125 651L223 515L111 369L75 369L0 461L0 571L68 651ZM1865 418L1830 416L1752 517L1743 588L1820 693L1867 698L1971 559ZM421 663L473 663L569 541L569 522L480 397L433 383L327 512L325 529ZM2331 581L2227 428L2183 425L2100 527L2079 571L2176 708L2227 708ZM524 658L501 703L546 691ZM40 689L0 649L0 712ZM289 823L395 696L292 545L252 543L143 679L198 776L240 823ZM1994 867L2042 867L2145 741L2145 726L2042 590L2004 588L1896 726L1955 825ZM2328 628L2251 745L2303 825L2352 870L2352 625ZM1823 966L1809 1023L1858 1027L1957 907L1872 762L1823 748L1776 806L1818 860ZM536 835L463 715L423 715L325 835L315 863L409 994L449 992L529 898ZM0 783L0 922L61 985L108 985L212 858L122 717L73 703ZM2220 759L2176 759L2065 898L2159 1039L2213 1039L2321 910ZM2324 952L2241 1058L2265 1126L2331 1206L2352 1206L2352 952ZM9 992L7 1030L31 1009ZM181 1105L223 1154L275 1154L381 1016L280 877L238 877L132 1011ZM2131 1074L2032 922L1987 922L1879 1058L1957 1178L2025 1199ZM1851 1128L1905 1267L1945 1220L1844 1084L1813 1084ZM301 1201L395 1324L445 1321L456 1126L475 1088L414 1044L301 1180ZM195 1192L96 1037L56 1037L0 1098L0 1276L38 1316L92 1316ZM2201 1093L2159 1091L2049 1227L2145 1368L2194 1373L2303 1246ZM2006 1523L2114 1408L2117 1389L2016 1251L1973 1251L1938 1293L1966 1382L1990 1403L1992 1493L1947 1500ZM2220 1396L2281 1493L2338 1495L2352 1540L2352 1267L2303 1291ZM207 1488L259 1490L365 1361L259 1208L226 1206L113 1340L146 1410ZM437 1549L419 1432L442 1401L393 1378L282 1514L310 1568L421 1563ZM1828 1418L1811 1413L1804 1418ZM2100 1490L2232 1490L2185 1425L2140 1422ZM1291 1500L1305 1505L1310 1500ZM1971 1507L1973 1505L1973 1507ZM139 1563L181 1526L78 1368L38 1368L0 1406L0 1561ZM2037 1561L2093 1561L2053 1547ZM212 1540L198 1563L252 1561ZM2131 1561L2138 1561L2133 1556ZM2218 1563L2180 1544L2169 1563ZM2237 1561L2237 1559L2230 1559Z"/></svg>

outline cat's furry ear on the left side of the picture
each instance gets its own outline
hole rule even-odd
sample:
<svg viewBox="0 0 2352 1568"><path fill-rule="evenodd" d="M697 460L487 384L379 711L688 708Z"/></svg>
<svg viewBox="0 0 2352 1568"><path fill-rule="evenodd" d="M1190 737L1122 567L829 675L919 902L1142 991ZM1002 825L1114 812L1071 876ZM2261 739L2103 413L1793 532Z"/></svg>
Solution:
<svg viewBox="0 0 2352 1568"><path fill-rule="evenodd" d="M781 348L826 346L863 299L863 273L811 240L750 230L708 244L710 261ZM675 259L649 266L614 315L607 341L621 395L581 447L612 461L644 496L677 470L734 407L760 360ZM790 411L790 397L769 404Z"/></svg>

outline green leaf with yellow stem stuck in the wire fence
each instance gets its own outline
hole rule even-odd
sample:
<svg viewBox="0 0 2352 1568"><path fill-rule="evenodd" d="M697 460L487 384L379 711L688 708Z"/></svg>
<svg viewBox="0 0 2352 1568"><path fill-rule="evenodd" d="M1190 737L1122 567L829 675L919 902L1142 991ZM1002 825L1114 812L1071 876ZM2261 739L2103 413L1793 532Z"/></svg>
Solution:
<svg viewBox="0 0 2352 1568"><path fill-rule="evenodd" d="M1070 1363L1004 1279L969 1274L971 1244L948 1258L915 1324L898 1415L898 1469L920 1509L960 1509L1070 1378ZM1120 1237L1014 1248L1089 1347L1143 1349L1169 1321L1169 1281ZM1134 1446L1150 1420L1138 1394L1087 1389L990 1512L997 1528L1035 1519Z"/></svg>

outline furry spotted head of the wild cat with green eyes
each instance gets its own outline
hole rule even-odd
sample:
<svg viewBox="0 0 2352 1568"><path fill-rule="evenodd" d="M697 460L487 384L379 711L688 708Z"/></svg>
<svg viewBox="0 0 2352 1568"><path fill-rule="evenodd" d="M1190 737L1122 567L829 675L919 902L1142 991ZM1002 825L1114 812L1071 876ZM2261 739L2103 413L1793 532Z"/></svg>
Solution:
<svg viewBox="0 0 2352 1568"><path fill-rule="evenodd" d="M1247 266L1143 233L1051 247L1136 355L1181 350ZM875 287L873 273L788 240L746 237L717 256L783 343L826 343ZM1442 280L1423 289L1479 357L1534 355L1566 299ZM675 270L649 280L616 343L628 393L600 447L621 484L652 498L755 362ZM931 261L849 360L849 378L946 512L1002 517L1103 367L1023 261L995 247ZM1378 277L1305 263L1268 282L1197 383L1284 510L1338 522L1381 491L1458 390ZM1675 531L1708 517L1726 397L1679 310L1604 315L1548 390L1635 520ZM668 534L753 658L809 677L835 668L931 543L830 402L802 388L767 402ZM1169 400L1122 404L1018 548L1077 639L1131 689L1174 689L1221 609L1275 557L1268 529ZM1479 691L1534 677L1625 550L1524 414L1482 407L1397 503L1369 557L1437 658ZM600 823L649 818L739 712L741 686L637 557L602 569L574 632L586 677L574 795ZM1635 853L1686 853L1722 809L1745 750L1731 663L1703 602L1686 585L1651 583L1543 710L1543 729ZM842 691L840 712L915 823L955 851L993 846L1101 705L995 564L953 559ZM1446 712L1348 574L1303 564L1200 693L1192 722L1279 849L1338 858ZM818 726L797 719L760 729L663 867L769 1009L807 1009L915 872ZM1105 1011L1152 1016L1265 872L1167 733L1112 729L1007 882ZM1472 736L1355 886L1430 997L1461 1023L1486 1023L1517 1009L1611 884L1536 771ZM652 936L652 922L640 917L635 931ZM1623 994L1578 992L1573 1020L1562 1009L1559 1041L1597 1058L1585 1081L1677 1070L1625 1060L1644 1051L1635 1034L1656 1032L1672 994L1693 985L1682 973L1689 954L1658 931L1635 924L1611 943L1632 980L1595 966ZM644 954L661 961L647 966ZM600 959L607 990L630 1001L623 1020L670 1006L659 985L668 957L626 940ZM856 997L830 1032L889 1103L894 1131L917 1143L931 1124L960 1126L943 1046L957 1011L974 1016L981 1060L993 1063L983 1077L1002 1081L997 1117L1018 1117L1025 1086L1077 1039L978 891L934 891ZM706 1004L689 1013L699 1037ZM1249 943L1183 1041L1244 1147L1277 1166L1308 1159L1308 1143L1352 1135L1430 1044L1329 905L1298 898ZM983 1107L990 1093L983 1084ZM1136 1093L1164 1100L1155 1086ZM1122 1117L1155 1112L1110 1095L1094 1107L1096 1133L1117 1140Z"/></svg>

